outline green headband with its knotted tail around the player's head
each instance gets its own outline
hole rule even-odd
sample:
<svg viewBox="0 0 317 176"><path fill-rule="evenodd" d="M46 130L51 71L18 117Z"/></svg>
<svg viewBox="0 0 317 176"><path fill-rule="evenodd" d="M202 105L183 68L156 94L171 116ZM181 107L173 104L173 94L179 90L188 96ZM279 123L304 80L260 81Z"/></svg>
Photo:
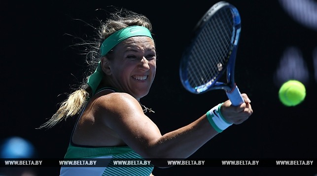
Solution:
<svg viewBox="0 0 317 176"><path fill-rule="evenodd" d="M103 42L103 44L100 47L101 56L105 56L113 47L115 47L121 41L134 36L147 36L152 38L149 29L142 26L130 26L127 28L120 29L111 34ZM91 96L93 96L96 93L96 89L98 88L103 77L104 72L101 68L101 63L99 61L96 71L92 75L90 75L87 81L88 85L92 89Z"/></svg>

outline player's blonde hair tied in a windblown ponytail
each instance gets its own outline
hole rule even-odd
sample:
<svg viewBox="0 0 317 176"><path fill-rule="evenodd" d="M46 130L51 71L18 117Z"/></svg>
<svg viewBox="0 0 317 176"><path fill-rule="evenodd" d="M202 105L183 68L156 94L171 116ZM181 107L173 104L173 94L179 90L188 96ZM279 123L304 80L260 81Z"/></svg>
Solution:
<svg viewBox="0 0 317 176"><path fill-rule="evenodd" d="M110 17L106 23L100 21L100 27L97 30L98 38L93 41L83 41L78 45L85 45L89 50L86 55L86 62L88 63L87 75L82 82L80 88L68 95L67 99L64 100L56 113L39 128L51 128L58 124L63 119L78 115L83 108L83 105L88 101L91 95L91 89L87 84L87 79L95 71L100 55L100 45L102 42L117 30L126 28L128 26L143 26L152 31L152 25L150 21L141 14L135 13L130 10L120 9L109 14Z"/></svg>

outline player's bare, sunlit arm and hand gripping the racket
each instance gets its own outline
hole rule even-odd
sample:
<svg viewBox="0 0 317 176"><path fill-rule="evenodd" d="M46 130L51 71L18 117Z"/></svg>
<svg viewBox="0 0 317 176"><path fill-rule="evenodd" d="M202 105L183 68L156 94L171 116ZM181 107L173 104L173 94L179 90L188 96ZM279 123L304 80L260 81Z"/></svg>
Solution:
<svg viewBox="0 0 317 176"><path fill-rule="evenodd" d="M247 103L240 107L230 106L230 101L222 104L221 113L227 121L239 124L246 120L252 109ZM96 117L103 118L105 125L144 158L187 158L218 134L206 114L194 122L161 135L153 121L144 115L139 102L126 93L110 93L96 100L100 106ZM166 118L167 122L169 117Z"/></svg>

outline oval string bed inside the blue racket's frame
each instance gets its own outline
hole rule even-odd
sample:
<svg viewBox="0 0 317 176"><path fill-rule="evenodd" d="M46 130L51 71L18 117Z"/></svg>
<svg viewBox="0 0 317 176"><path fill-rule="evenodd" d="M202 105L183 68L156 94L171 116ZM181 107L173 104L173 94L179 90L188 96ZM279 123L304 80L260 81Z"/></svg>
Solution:
<svg viewBox="0 0 317 176"><path fill-rule="evenodd" d="M233 17L229 8L219 9L197 35L187 73L193 88L211 85L225 68L233 42Z"/></svg>

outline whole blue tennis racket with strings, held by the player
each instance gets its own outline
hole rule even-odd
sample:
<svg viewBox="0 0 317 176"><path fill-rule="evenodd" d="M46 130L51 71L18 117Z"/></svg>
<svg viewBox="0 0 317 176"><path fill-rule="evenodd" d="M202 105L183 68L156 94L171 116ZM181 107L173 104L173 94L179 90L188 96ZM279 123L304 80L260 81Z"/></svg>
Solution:
<svg viewBox="0 0 317 176"><path fill-rule="evenodd" d="M236 7L226 1L211 6L196 25L180 60L180 80L186 90L201 94L224 89L232 105L244 103L234 80L240 31Z"/></svg>

